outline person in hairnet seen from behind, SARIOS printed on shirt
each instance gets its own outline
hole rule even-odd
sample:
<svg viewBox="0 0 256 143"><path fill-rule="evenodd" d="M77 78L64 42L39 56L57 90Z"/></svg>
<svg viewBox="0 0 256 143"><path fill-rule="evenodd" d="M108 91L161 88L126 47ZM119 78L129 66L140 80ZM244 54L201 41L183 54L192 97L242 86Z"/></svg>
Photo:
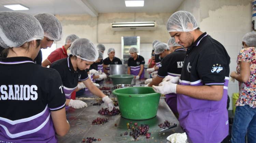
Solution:
<svg viewBox="0 0 256 143"><path fill-rule="evenodd" d="M0 12L0 140L2 142L58 142L65 136L65 94L56 70L33 62L43 29L32 15ZM40 75L40 76L38 76Z"/></svg>

